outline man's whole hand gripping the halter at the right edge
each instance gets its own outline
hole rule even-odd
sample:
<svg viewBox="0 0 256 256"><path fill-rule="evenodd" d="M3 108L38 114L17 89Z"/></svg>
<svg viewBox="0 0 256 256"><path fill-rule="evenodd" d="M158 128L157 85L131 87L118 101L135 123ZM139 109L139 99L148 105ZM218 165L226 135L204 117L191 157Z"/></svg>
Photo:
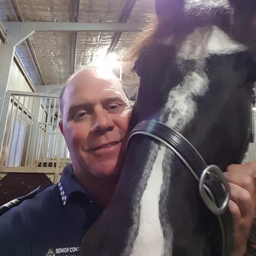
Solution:
<svg viewBox="0 0 256 256"><path fill-rule="evenodd" d="M231 190L229 208L234 224L234 250L232 256L243 256L254 217L256 163L229 165L226 176Z"/></svg>

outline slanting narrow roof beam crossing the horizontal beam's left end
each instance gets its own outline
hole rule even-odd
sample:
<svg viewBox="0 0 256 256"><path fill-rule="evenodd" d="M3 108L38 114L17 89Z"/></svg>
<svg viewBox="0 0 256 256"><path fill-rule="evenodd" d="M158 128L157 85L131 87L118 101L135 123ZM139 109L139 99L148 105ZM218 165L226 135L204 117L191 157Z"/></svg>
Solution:
<svg viewBox="0 0 256 256"><path fill-rule="evenodd" d="M19 4L18 4L17 0L10 0L10 2L11 2L11 5L13 7L13 11L15 13L17 21L23 22L24 20L23 20L23 17L22 17L22 14L21 14L21 11L20 11L20 8L19 8ZM41 68L39 66L39 63L38 63L38 60L37 60L37 56L35 55L35 50L33 48L33 45L31 43L31 40L30 40L29 37L26 39L26 46L28 48L28 52L29 52L30 57L32 58L33 64L35 66L35 70L37 72L37 76L39 77L39 80L41 81L41 83L43 85L45 85L45 79L43 77L42 70L41 70Z"/></svg>

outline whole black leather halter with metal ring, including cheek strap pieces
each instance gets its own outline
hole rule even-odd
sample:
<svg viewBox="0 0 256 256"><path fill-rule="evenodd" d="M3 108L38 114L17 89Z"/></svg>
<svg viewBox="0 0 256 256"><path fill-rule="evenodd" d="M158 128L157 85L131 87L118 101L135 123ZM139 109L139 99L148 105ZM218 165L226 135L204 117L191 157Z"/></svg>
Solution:
<svg viewBox="0 0 256 256"><path fill-rule="evenodd" d="M251 143L254 142L253 108L256 98L254 88L252 88L252 98L250 122ZM199 193L204 204L211 213L217 216L219 221L219 228L222 234L220 254L223 256L230 255L233 247L232 216L228 209L230 186L223 172L216 165L207 165L202 156L183 135L161 122L150 120L137 124L130 132L127 148L135 135L145 135L163 143L191 171L199 183Z"/></svg>

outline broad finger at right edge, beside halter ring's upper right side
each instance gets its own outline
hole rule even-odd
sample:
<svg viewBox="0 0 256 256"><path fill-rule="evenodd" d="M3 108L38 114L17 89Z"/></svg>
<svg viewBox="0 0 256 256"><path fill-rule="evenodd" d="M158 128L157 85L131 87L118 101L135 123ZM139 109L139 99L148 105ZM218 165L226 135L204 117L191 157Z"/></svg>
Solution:
<svg viewBox="0 0 256 256"><path fill-rule="evenodd" d="M255 198L255 184L254 178L249 174L236 173L236 172L226 172L224 176L228 182L236 184L237 186L243 187L251 194L252 198Z"/></svg>

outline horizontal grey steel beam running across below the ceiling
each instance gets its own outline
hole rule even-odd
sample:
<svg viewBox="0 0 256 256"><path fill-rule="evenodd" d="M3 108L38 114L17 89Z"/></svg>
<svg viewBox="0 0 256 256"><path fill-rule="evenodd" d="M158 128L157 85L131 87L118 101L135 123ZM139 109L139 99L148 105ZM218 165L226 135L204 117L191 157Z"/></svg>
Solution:
<svg viewBox="0 0 256 256"><path fill-rule="evenodd" d="M118 22L2 22L7 32L20 30L35 31L113 31L113 32L138 32L138 23Z"/></svg>

